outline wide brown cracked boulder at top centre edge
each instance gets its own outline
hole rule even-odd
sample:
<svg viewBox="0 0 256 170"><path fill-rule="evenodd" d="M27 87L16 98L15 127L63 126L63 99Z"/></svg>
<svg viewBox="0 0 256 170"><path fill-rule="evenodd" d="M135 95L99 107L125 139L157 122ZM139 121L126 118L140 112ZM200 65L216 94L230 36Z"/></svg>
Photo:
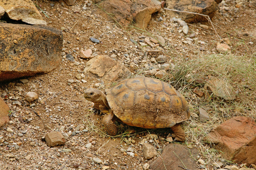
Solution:
<svg viewBox="0 0 256 170"><path fill-rule="evenodd" d="M161 3L157 0L94 0L94 2L98 2L98 5L108 12L111 17L101 8L97 8L98 13L104 18L114 19L125 29L129 29L131 26L146 29L148 22L150 22L151 14L161 8Z"/></svg>

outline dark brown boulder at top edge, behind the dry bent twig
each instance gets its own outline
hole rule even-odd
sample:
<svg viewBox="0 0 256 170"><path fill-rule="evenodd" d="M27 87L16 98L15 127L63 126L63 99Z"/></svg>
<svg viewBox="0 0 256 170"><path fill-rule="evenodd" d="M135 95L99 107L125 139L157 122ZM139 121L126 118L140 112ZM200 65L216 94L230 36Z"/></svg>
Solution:
<svg viewBox="0 0 256 170"><path fill-rule="evenodd" d="M199 14L209 15L212 18L217 10L217 2L214 0L166 0L166 7L172 10L195 12ZM166 11L171 17L178 16L186 23L207 21L207 18L198 14L188 12Z"/></svg>

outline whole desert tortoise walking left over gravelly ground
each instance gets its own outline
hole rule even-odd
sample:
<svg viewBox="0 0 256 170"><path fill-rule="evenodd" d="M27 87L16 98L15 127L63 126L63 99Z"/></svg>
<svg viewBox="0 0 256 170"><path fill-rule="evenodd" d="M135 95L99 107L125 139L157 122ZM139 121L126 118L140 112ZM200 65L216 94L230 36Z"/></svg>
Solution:
<svg viewBox="0 0 256 170"><path fill-rule="evenodd" d="M141 128L171 128L177 141L185 141L180 123L188 120L190 112L187 101L170 84L159 79L124 79L105 93L96 88L84 92L86 100L107 113L102 122L109 135L117 134L115 116L123 123Z"/></svg>

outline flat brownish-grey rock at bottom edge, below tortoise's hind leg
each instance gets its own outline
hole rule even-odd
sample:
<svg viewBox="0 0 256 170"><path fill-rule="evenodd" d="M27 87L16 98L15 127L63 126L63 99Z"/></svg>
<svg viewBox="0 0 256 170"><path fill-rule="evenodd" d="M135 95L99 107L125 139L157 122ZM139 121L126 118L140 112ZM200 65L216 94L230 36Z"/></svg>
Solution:
<svg viewBox="0 0 256 170"><path fill-rule="evenodd" d="M197 155L197 150L189 149L184 145L170 144L163 149L162 158L158 157L150 164L152 170L166 170L166 169L197 169L196 160L191 158L192 155ZM180 161L182 160L182 162ZM184 165L185 167L184 167ZM180 166L180 167L179 167ZM183 167L183 168L181 168Z"/></svg>

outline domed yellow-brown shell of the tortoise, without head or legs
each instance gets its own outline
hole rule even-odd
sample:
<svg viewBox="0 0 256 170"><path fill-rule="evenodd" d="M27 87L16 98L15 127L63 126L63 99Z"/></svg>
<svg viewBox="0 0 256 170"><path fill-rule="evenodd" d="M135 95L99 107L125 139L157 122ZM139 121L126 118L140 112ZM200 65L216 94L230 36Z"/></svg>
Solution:
<svg viewBox="0 0 256 170"><path fill-rule="evenodd" d="M106 90L106 99L123 123L141 128L171 128L188 120L185 97L159 79L125 79Z"/></svg>

